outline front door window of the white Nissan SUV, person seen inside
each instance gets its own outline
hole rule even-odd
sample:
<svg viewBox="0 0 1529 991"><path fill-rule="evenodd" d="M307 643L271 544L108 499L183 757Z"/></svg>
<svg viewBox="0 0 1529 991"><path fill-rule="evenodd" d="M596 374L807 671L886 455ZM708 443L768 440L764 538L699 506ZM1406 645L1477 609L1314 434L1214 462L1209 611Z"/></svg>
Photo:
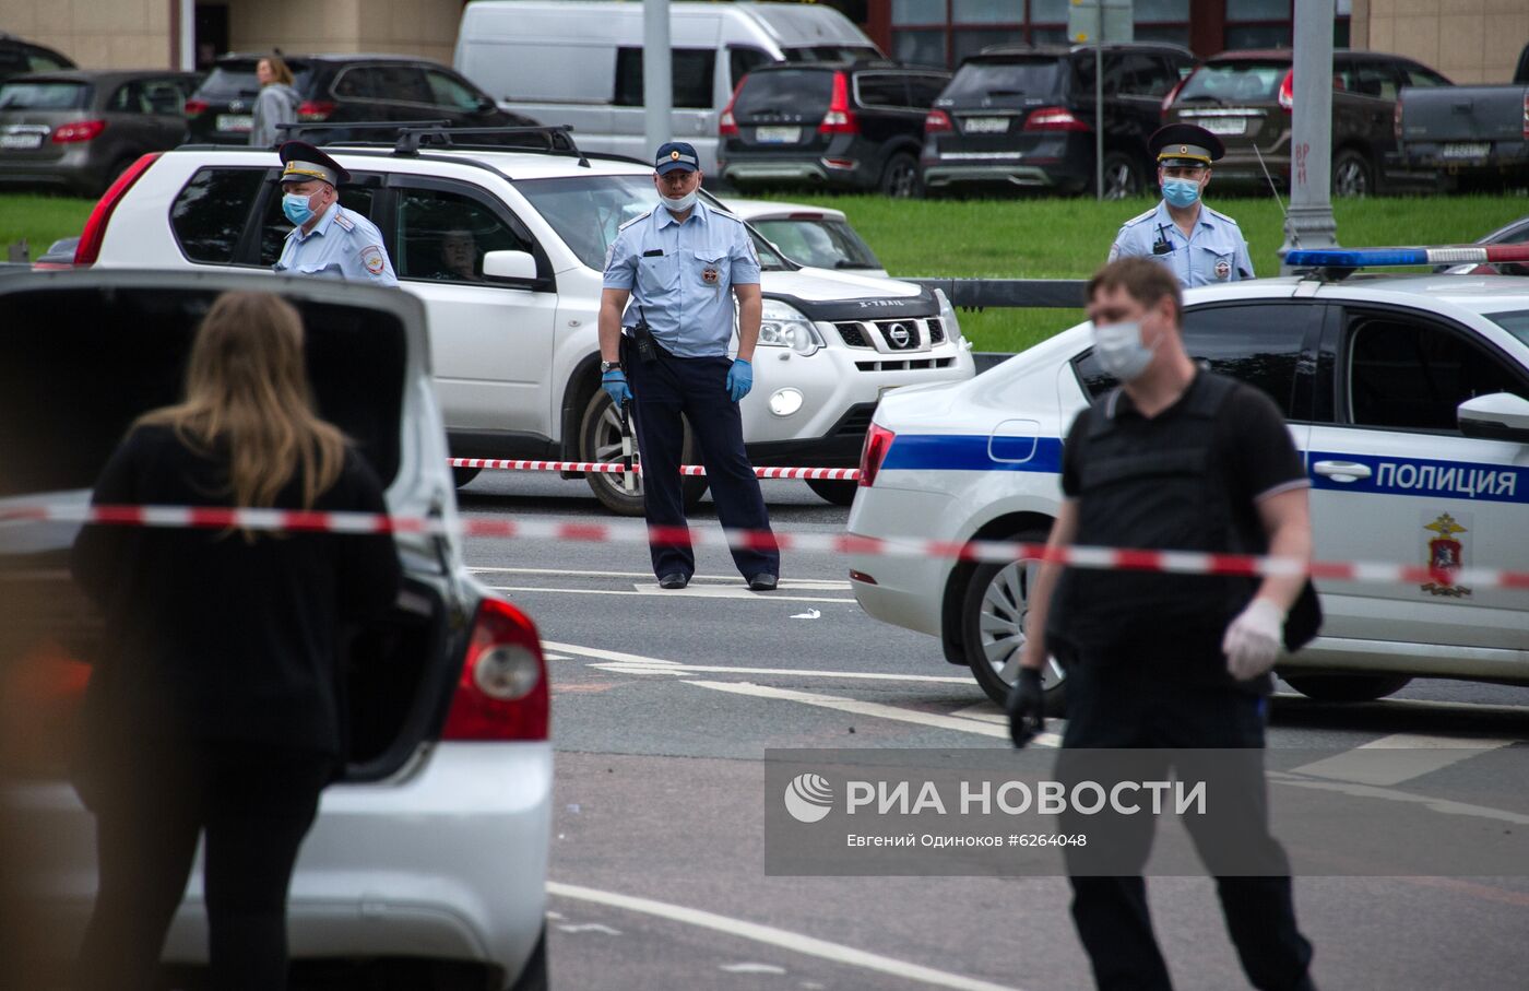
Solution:
<svg viewBox="0 0 1529 991"><path fill-rule="evenodd" d="M531 251L498 213L465 193L405 188L398 206L399 278L477 283L489 251Z"/></svg>

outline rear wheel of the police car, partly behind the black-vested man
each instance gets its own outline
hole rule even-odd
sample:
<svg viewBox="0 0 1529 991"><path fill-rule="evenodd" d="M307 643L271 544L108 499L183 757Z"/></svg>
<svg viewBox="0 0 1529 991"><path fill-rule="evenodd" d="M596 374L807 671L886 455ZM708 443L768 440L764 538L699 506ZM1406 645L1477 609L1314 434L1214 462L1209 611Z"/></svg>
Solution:
<svg viewBox="0 0 1529 991"><path fill-rule="evenodd" d="M1011 540L1046 543L1046 531L1026 529ZM962 648L972 677L997 705L1009 697L1018 676L1020 648L1024 645L1024 619L1029 589L1040 570L1038 561L985 561L971 572L962 598ZM1041 684L1046 688L1046 714L1061 716L1067 708L1067 674L1049 658Z"/></svg>

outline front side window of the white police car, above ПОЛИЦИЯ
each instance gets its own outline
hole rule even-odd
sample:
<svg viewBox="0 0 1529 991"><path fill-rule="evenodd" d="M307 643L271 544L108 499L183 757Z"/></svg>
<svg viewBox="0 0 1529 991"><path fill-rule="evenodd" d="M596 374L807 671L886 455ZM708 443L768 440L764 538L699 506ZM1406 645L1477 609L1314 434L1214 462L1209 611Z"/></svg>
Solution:
<svg viewBox="0 0 1529 991"><path fill-rule="evenodd" d="M1356 314L1346 349L1355 427L1459 433L1456 408L1491 393L1529 398L1508 362L1465 333L1427 320Z"/></svg>

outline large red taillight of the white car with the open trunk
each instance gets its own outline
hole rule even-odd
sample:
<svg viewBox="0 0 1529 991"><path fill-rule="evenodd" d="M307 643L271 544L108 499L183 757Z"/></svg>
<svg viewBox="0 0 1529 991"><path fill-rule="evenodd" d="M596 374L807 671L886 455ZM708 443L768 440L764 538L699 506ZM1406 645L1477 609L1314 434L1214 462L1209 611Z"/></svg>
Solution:
<svg viewBox="0 0 1529 991"><path fill-rule="evenodd" d="M500 598L479 603L468 658L442 740L546 740L547 664L526 613Z"/></svg>

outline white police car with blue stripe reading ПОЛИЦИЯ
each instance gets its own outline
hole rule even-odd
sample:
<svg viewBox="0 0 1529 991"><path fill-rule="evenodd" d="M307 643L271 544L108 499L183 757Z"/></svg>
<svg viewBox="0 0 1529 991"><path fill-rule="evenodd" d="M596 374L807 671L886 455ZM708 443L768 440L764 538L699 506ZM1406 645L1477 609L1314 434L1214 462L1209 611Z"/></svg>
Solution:
<svg viewBox="0 0 1529 991"><path fill-rule="evenodd" d="M1338 278L1367 265L1514 260L1503 252L1529 257L1524 246L1292 254L1327 268L1185 292L1190 355L1257 385L1289 421L1312 480L1318 560L1529 566L1529 278ZM888 395L865 439L850 532L1043 541L1061 500L1061 437L1113 384L1079 324L969 382ZM946 661L1003 699L1034 564L856 555L850 567L865 612L940 638ZM1529 684L1529 592L1318 590L1323 636L1278 668L1307 696L1376 699L1414 676ZM1060 696L1063 671L1050 665L1046 679Z"/></svg>

